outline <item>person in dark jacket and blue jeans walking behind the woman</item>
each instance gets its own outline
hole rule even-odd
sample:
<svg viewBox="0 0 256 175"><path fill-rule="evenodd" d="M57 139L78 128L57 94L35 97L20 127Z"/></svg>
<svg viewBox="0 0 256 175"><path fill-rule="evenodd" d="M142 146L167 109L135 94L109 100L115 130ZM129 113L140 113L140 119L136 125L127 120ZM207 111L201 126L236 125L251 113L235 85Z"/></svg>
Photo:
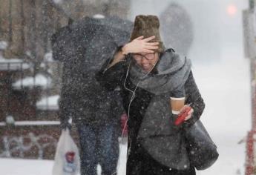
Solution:
<svg viewBox="0 0 256 175"><path fill-rule="evenodd" d="M96 28L88 26L81 30L83 33L78 36L72 26L62 27L53 39L53 59L63 63L59 99L61 128L70 128L70 118L76 125L81 175L96 175L98 164L102 174L111 175L116 171L119 157L122 104L119 90L106 91L94 74L95 60L104 62L114 44L110 36Z"/></svg>

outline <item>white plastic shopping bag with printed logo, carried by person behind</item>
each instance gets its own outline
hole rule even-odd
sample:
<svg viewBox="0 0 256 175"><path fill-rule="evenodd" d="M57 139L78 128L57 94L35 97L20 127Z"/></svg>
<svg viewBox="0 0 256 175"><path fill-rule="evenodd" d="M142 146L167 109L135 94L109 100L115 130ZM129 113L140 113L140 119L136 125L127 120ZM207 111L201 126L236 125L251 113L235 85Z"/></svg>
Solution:
<svg viewBox="0 0 256 175"><path fill-rule="evenodd" d="M79 170L79 150L70 136L70 131L62 130L55 153L53 175L76 175Z"/></svg>

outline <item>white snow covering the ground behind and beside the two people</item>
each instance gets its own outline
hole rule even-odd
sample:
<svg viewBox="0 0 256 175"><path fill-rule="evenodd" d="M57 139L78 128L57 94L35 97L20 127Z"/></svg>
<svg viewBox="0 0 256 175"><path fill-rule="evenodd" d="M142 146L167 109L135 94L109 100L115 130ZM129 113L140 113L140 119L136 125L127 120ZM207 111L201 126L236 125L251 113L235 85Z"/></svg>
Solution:
<svg viewBox="0 0 256 175"><path fill-rule="evenodd" d="M194 78L206 102L203 124L218 146L220 157L198 175L244 174L246 144L238 144L251 128L249 60L223 59L215 65L194 65ZM118 174L125 174L122 146ZM53 161L0 159L1 175L50 175Z"/></svg>

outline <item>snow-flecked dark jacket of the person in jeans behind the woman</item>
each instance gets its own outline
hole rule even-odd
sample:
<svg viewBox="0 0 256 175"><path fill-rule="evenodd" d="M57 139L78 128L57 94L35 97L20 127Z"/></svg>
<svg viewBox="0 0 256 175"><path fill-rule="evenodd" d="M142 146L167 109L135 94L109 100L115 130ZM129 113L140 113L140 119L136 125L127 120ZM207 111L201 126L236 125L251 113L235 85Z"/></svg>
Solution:
<svg viewBox="0 0 256 175"><path fill-rule="evenodd" d="M61 127L68 126L70 117L76 125L118 125L123 112L119 91L106 91L95 79L95 72L113 54L116 45L102 28L88 25L79 30L82 31L77 32L72 26L62 27L52 41L53 59L63 65Z"/></svg>

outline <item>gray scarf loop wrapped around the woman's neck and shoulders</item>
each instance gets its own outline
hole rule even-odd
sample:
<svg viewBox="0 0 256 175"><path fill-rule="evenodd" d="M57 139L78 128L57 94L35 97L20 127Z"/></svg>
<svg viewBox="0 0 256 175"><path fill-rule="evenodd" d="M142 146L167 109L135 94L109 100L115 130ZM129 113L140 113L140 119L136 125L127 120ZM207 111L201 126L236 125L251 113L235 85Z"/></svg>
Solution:
<svg viewBox="0 0 256 175"><path fill-rule="evenodd" d="M157 74L143 72L136 64L131 65L130 79L134 85L159 95L184 85L191 70L191 61L174 52L165 52L157 65Z"/></svg>

